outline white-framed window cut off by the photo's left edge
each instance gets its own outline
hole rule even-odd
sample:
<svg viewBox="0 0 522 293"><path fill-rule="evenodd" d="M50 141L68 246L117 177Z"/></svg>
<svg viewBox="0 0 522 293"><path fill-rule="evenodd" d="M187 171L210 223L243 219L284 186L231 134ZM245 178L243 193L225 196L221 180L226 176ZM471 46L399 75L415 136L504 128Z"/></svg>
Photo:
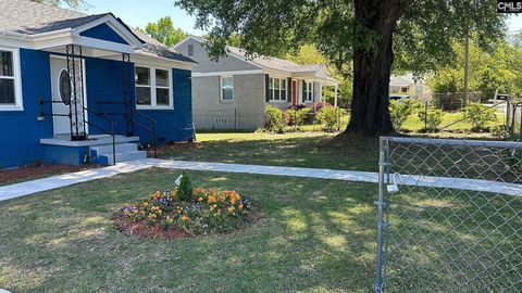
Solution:
<svg viewBox="0 0 522 293"><path fill-rule="evenodd" d="M22 107L17 51L0 48L0 111Z"/></svg>

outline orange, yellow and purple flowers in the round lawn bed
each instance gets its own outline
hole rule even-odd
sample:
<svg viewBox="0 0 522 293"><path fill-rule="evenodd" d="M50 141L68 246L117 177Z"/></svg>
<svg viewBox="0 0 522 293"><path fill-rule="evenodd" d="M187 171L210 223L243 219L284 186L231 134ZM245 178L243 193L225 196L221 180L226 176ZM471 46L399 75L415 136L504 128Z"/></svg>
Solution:
<svg viewBox="0 0 522 293"><path fill-rule="evenodd" d="M124 218L163 229L181 228L190 234L226 232L245 221L252 204L236 191L195 188L189 200L178 188L157 191L148 199L122 208Z"/></svg>

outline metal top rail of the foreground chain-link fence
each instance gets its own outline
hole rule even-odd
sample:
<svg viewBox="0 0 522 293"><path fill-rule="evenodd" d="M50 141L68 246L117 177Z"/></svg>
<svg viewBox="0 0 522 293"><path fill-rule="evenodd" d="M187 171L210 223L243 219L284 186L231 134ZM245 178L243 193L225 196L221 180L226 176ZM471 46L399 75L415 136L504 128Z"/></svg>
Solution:
<svg viewBox="0 0 522 293"><path fill-rule="evenodd" d="M391 142L399 142L399 143L436 144L436 145L467 145L467 146L522 149L522 142L519 142L519 141L432 139L432 138L405 138L405 137L381 137L381 141L382 142L391 141Z"/></svg>

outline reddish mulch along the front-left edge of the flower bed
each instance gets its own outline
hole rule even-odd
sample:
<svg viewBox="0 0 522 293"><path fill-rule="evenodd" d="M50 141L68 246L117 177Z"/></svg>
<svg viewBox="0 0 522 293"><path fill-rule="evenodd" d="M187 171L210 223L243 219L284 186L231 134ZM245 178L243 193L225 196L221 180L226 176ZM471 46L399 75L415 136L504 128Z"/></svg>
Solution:
<svg viewBox="0 0 522 293"><path fill-rule="evenodd" d="M127 235L145 239L176 239L188 238L191 234L183 229L163 229L160 225L148 226L145 221L129 221L122 215L112 217L116 229Z"/></svg>

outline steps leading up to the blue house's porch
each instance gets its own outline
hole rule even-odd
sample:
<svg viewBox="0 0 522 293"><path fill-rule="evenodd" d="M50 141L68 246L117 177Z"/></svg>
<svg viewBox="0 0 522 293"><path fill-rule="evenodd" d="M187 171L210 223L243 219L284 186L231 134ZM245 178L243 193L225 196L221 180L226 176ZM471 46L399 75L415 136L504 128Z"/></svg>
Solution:
<svg viewBox="0 0 522 293"><path fill-rule="evenodd" d="M116 163L140 160L147 157L146 151L138 151L138 144L132 142L116 143ZM90 148L92 161L98 164L113 164L112 144L97 145Z"/></svg>

